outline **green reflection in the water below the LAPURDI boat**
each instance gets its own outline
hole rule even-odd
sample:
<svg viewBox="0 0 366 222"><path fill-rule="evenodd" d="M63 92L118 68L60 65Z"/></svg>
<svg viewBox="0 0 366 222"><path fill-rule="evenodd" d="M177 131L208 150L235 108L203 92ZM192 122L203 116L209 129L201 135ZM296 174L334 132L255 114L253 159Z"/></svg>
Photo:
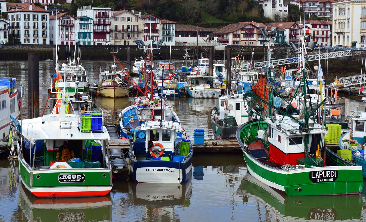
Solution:
<svg viewBox="0 0 366 222"><path fill-rule="evenodd" d="M238 192L243 193L244 201L254 197L259 203L266 205L262 212L258 210L258 217L265 216L265 221L365 219L361 218L364 201L359 195L286 196L261 183L249 173L245 179Z"/></svg>

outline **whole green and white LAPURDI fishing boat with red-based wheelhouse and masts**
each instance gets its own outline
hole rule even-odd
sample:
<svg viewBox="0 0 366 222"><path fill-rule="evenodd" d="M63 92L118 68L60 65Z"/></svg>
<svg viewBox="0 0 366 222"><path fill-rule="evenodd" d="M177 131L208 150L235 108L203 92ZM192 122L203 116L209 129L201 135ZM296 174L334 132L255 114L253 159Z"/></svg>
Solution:
<svg viewBox="0 0 366 222"><path fill-rule="evenodd" d="M304 96L297 114L293 114L296 110L288 112L292 100L288 101L286 109L280 109L280 104L273 99L275 84L271 80L270 65L268 72L258 74L258 83L252 84L252 90L244 94L250 98L251 108L258 115L258 119L241 125L236 131L248 171L257 180L288 196L358 194L363 188L361 166L324 146L327 131L314 113L321 112L326 99L312 106L310 94L304 87L307 85L303 68L305 35L299 38L299 71Z"/></svg>

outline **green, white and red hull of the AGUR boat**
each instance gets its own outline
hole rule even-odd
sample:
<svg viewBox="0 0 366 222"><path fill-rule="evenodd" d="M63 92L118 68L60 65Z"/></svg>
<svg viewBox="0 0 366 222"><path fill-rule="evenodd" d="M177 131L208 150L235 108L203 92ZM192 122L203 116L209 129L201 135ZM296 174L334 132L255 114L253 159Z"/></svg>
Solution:
<svg viewBox="0 0 366 222"><path fill-rule="evenodd" d="M112 172L100 168L68 168L30 170L19 158L19 174L23 185L38 197L104 196L112 189ZM82 175L81 180L60 181L60 177Z"/></svg>

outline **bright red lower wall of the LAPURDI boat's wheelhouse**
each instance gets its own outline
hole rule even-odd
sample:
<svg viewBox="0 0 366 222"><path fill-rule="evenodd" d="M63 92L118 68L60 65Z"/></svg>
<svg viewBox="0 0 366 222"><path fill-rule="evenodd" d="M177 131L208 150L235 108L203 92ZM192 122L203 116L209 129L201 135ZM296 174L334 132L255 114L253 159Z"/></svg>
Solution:
<svg viewBox="0 0 366 222"><path fill-rule="evenodd" d="M279 163L280 165L291 164L296 165L296 159L305 158L305 153L285 154L273 144L269 143L269 159L271 162Z"/></svg>

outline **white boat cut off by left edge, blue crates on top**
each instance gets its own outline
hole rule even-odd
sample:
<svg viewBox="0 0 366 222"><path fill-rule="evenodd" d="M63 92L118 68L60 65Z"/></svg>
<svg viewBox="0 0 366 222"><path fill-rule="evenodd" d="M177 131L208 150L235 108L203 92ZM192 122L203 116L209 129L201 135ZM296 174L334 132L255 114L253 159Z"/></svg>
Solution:
<svg viewBox="0 0 366 222"><path fill-rule="evenodd" d="M0 79L0 140L9 137L10 116L18 118L20 114L18 90L15 89L15 83L15 78Z"/></svg>

